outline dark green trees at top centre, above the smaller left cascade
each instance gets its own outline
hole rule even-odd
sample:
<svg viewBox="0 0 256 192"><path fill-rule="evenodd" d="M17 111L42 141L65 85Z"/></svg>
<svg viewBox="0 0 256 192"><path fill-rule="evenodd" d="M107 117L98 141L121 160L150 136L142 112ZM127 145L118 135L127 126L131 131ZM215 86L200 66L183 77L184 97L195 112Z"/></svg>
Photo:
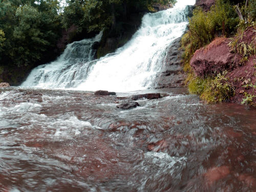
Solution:
<svg viewBox="0 0 256 192"><path fill-rule="evenodd" d="M154 3L174 3L175 0L68 0L62 24L68 29L77 26L78 32L99 32L114 28L118 20L126 20L131 13L148 11Z"/></svg>

